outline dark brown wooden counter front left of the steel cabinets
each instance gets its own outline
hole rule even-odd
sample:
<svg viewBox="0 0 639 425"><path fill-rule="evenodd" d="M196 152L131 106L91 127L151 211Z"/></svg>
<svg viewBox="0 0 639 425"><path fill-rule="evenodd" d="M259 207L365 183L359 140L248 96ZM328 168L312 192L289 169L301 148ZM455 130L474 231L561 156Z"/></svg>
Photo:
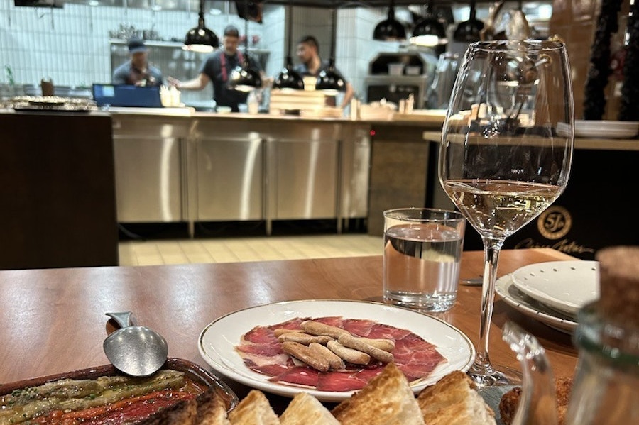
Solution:
<svg viewBox="0 0 639 425"><path fill-rule="evenodd" d="M111 117L0 114L0 269L118 264Z"/></svg>

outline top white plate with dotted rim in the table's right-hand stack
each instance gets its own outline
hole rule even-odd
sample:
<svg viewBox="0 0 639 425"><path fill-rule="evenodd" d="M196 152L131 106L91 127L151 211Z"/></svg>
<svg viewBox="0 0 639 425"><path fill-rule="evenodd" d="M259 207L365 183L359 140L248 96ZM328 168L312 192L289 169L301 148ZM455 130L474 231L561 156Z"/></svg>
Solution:
<svg viewBox="0 0 639 425"><path fill-rule="evenodd" d="M552 309L577 316L577 311L599 298L599 263L548 261L513 272L515 287Z"/></svg>

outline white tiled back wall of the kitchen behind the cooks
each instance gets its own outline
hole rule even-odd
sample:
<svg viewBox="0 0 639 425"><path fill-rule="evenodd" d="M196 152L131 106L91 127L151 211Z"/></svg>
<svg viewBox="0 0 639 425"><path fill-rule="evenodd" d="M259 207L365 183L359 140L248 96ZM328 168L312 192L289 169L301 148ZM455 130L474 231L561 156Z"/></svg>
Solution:
<svg viewBox="0 0 639 425"><path fill-rule="evenodd" d="M121 23L138 29L158 31L165 40L181 41L197 24L197 11L158 11L91 7L65 4L62 9L13 6L0 1L0 84L8 83L5 67L11 67L16 84L35 84L50 77L54 84L88 86L92 82L111 80L109 31ZM285 63L286 18L288 9L266 5L263 23L249 22L249 34L259 35L258 48L270 50L266 74L275 77ZM356 93L364 90L368 62L381 51L395 51L397 43L372 40L373 28L386 17L386 9L349 8L337 11L335 63ZM244 33L244 20L224 14L204 17L206 25L218 35L233 23ZM293 62L295 45L302 35L315 35L320 54L328 58L331 51L331 11L297 7L293 11Z"/></svg>

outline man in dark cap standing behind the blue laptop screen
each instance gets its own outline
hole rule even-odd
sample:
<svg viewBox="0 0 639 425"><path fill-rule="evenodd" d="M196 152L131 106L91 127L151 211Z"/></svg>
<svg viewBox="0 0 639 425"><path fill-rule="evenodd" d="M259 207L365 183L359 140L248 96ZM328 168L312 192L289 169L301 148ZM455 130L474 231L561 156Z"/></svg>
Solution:
<svg viewBox="0 0 639 425"><path fill-rule="evenodd" d="M113 72L113 84L159 86L163 84L162 72L148 64L148 48L142 40L129 40L129 60Z"/></svg>

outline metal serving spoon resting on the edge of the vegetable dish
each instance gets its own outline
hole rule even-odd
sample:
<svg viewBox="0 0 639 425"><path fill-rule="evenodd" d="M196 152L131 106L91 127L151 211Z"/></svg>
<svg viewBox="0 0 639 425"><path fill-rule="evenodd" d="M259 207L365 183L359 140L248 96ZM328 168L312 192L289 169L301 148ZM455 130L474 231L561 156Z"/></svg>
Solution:
<svg viewBox="0 0 639 425"><path fill-rule="evenodd" d="M133 326L131 311L107 313L121 326L104 340L104 353L116 369L131 376L148 376L166 362L168 346L159 333Z"/></svg>

